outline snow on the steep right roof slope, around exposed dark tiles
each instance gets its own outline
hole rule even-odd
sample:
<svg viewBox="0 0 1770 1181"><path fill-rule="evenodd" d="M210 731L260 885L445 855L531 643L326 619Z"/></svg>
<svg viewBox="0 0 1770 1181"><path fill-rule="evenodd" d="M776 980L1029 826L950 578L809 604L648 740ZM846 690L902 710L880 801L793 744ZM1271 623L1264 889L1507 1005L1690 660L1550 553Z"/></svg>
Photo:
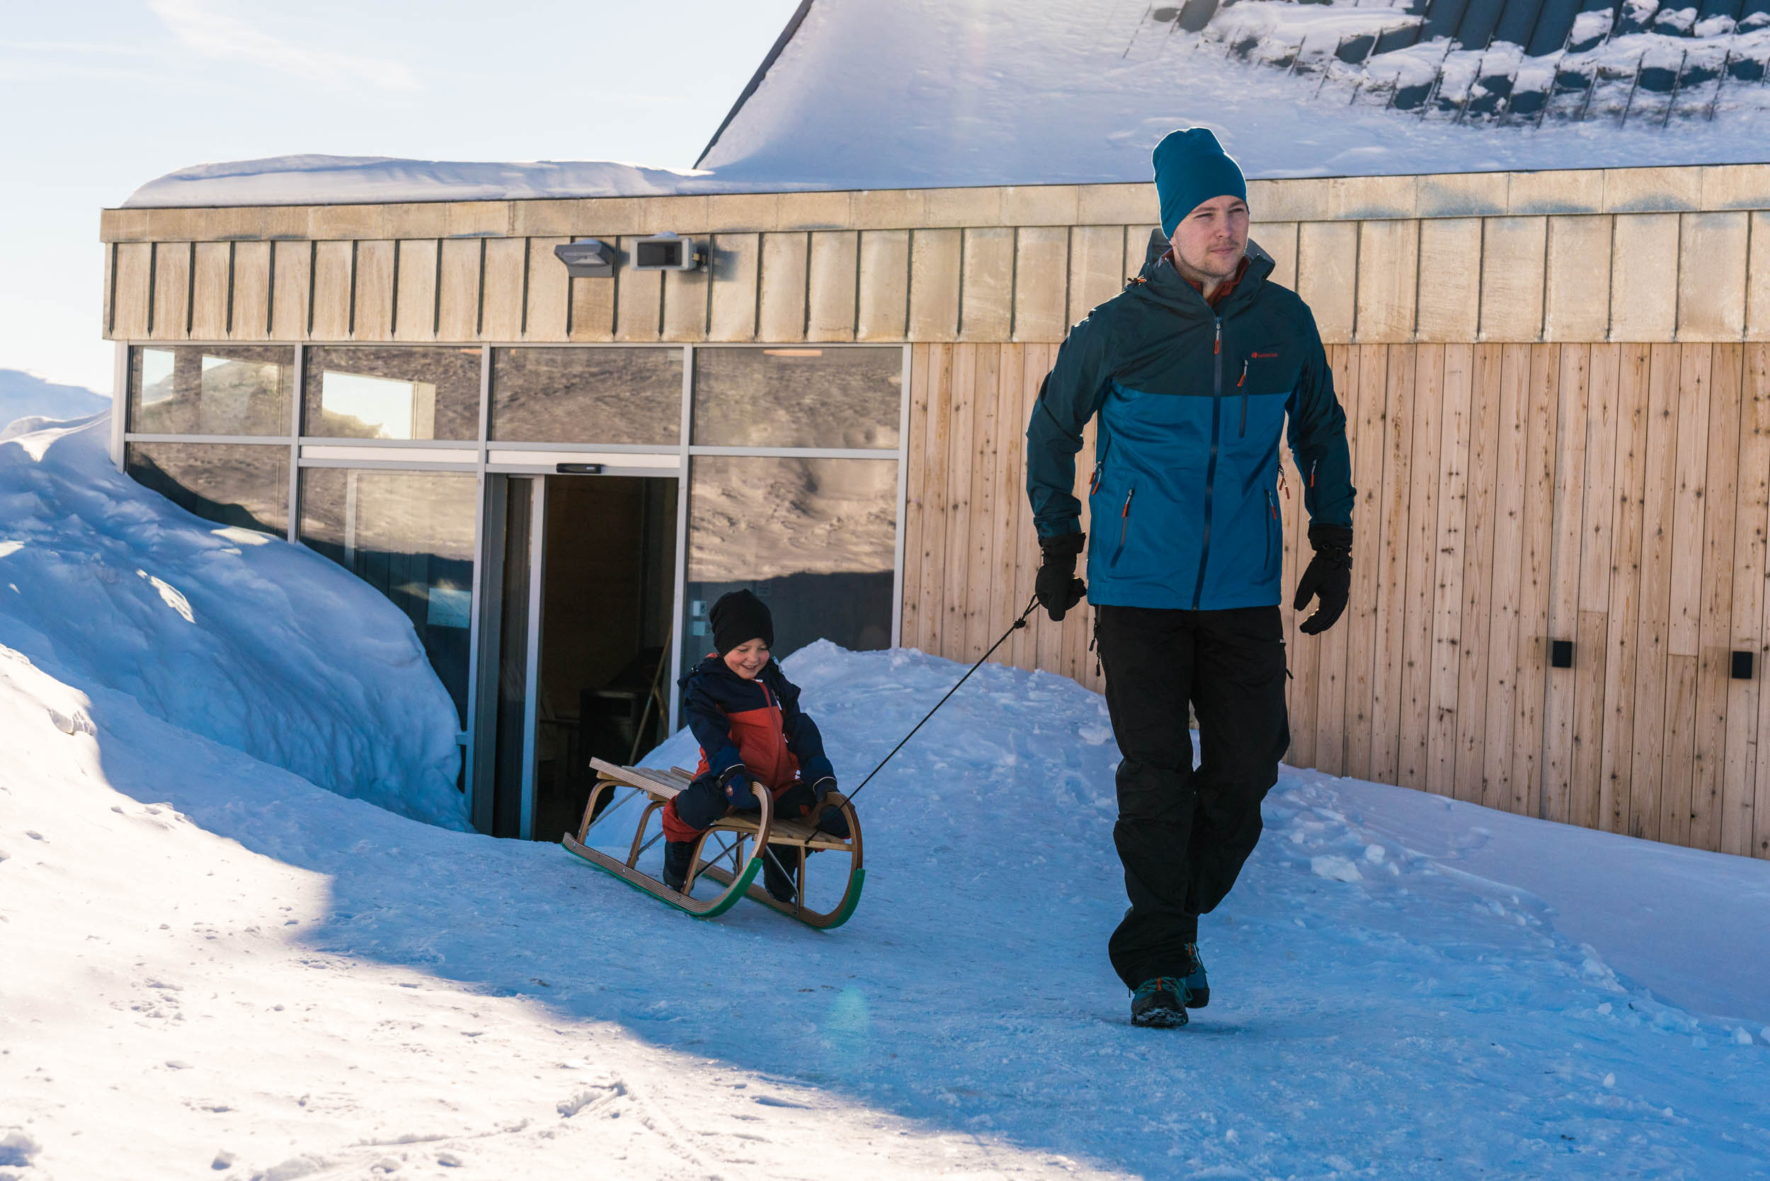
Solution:
<svg viewBox="0 0 1770 1181"><path fill-rule="evenodd" d="M1388 110L1388 90L1370 80L1400 73L1404 85L1414 81L1446 42L1375 55L1366 71L1333 50L1405 19L1389 5L1243 0L1189 34L1156 21L1140 0L812 4L699 166L722 181L821 177L825 188L1147 181L1150 149L1181 126L1216 131L1250 177L1766 159L1770 92L1758 85L1726 90L1712 120L1664 129L1658 108L1625 126L1551 119L1540 127ZM1595 32L1591 19L1579 28ZM1639 37L1690 48L1687 37ZM1248 62L1230 53L1246 39L1257 41ZM1565 64L1627 66L1632 76L1643 44L1623 41L1632 39ZM1299 46L1313 55L1310 69ZM1770 46L1740 37L1733 51L1738 60ZM1287 60L1297 66L1269 64ZM1473 81L1473 62L1466 71ZM1685 97L1706 101L1706 90Z"/></svg>

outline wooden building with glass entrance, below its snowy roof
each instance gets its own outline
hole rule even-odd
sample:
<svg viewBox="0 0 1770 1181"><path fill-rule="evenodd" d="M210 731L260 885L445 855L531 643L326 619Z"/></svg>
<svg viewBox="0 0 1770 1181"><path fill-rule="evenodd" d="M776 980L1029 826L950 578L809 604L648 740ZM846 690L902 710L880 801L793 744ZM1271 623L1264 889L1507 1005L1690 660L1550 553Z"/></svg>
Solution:
<svg viewBox="0 0 1770 1181"><path fill-rule="evenodd" d="M1359 489L1347 618L1306 637L1287 609L1289 761L1770 855L1770 166L1255 181L1250 205L1329 342ZM643 551L623 627L667 668L733 584L858 604L820 616L850 646L968 662L1007 629L1032 398L1154 216L1145 184L106 211L115 453L379 577L457 689L476 823L547 836L538 763L589 726L559 698L627 652L543 634L598 545ZM634 269L657 232L710 267ZM612 276L566 276L579 237ZM258 418L219 391L253 365ZM596 499L591 471L632 483ZM1041 620L1000 659L1099 687L1089 630ZM556 648L595 675L549 691Z"/></svg>

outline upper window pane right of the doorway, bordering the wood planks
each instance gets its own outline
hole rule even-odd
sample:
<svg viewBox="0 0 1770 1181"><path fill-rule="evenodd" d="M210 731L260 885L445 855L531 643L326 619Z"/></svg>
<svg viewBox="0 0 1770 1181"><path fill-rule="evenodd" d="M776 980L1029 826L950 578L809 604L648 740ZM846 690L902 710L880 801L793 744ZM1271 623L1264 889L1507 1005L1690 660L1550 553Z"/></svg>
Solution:
<svg viewBox="0 0 1770 1181"><path fill-rule="evenodd" d="M696 349L703 446L897 446L903 349Z"/></svg>

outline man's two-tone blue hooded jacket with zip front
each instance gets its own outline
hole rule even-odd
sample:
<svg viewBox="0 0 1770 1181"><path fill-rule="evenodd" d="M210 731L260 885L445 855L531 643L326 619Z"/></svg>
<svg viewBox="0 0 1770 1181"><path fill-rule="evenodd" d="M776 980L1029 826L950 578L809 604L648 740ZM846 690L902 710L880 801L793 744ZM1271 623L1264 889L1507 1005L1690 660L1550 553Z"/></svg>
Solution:
<svg viewBox="0 0 1770 1181"><path fill-rule="evenodd" d="M1351 528L1345 413L1308 305L1248 266L1216 308L1152 235L1124 292L1069 331L1027 425L1027 494L1041 538L1076 533L1076 452L1099 414L1089 600L1220 611L1280 602L1278 439L1289 418L1315 524Z"/></svg>

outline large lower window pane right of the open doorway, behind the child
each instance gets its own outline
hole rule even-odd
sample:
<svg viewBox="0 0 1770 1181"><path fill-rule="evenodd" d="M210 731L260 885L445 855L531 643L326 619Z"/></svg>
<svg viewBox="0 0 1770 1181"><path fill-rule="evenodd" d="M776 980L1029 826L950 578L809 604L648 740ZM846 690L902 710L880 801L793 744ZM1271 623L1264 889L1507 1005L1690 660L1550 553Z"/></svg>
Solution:
<svg viewBox="0 0 1770 1181"><path fill-rule="evenodd" d="M703 455L689 496L687 668L712 652L708 609L745 586L773 611L775 657L890 646L896 460Z"/></svg>

